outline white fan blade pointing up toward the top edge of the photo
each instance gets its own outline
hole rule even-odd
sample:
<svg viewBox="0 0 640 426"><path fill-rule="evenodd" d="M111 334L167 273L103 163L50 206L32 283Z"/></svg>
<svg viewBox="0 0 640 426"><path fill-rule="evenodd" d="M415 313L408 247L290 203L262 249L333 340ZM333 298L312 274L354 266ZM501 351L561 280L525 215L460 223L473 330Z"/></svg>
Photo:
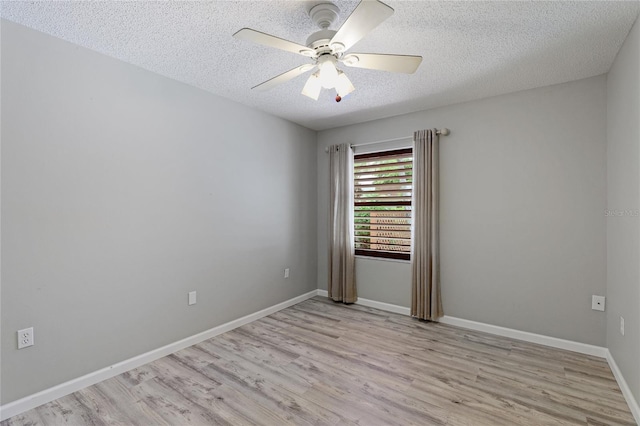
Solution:
<svg viewBox="0 0 640 426"><path fill-rule="evenodd" d="M378 0L362 0L329 44L339 43L340 49L337 50L344 52L391 15L393 9L386 4Z"/></svg>

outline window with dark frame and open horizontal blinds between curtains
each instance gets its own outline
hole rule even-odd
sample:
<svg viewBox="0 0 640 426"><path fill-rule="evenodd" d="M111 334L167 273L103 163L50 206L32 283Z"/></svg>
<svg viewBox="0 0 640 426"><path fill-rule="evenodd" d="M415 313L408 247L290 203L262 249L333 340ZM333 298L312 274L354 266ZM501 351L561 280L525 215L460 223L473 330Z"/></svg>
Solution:
<svg viewBox="0 0 640 426"><path fill-rule="evenodd" d="M356 254L409 260L411 148L354 157Z"/></svg>

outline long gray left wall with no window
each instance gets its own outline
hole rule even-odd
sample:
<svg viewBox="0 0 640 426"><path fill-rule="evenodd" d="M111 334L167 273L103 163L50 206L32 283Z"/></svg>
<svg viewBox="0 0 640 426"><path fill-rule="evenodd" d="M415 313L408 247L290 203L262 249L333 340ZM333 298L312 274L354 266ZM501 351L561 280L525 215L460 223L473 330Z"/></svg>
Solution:
<svg viewBox="0 0 640 426"><path fill-rule="evenodd" d="M316 288L315 132L6 21L2 112L2 403Z"/></svg>

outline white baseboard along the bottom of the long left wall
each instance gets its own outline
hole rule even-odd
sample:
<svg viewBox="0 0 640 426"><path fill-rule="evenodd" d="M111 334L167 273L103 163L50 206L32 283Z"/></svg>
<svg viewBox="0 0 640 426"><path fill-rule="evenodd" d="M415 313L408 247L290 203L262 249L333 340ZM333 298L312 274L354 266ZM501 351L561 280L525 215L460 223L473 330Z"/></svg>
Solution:
<svg viewBox="0 0 640 426"><path fill-rule="evenodd" d="M195 334L191 337L187 337L177 342L170 343L161 348L154 349L152 351L135 356L133 358L129 358L117 364L113 364L109 367L94 371L93 373L86 374L82 377L69 380L68 382L61 383L52 388L45 389L33 395L29 395L16 401L10 402L8 404L0 406L0 421L18 415L20 413L24 413L27 410L31 410L32 408L36 408L42 404L46 404L47 402L51 402L65 395L69 395L70 393L76 392L80 389L84 389L87 386L91 386L103 380L110 379L111 377L115 377L118 374L122 374L134 368L140 367L144 364L170 355L181 349L188 348L189 346L193 346L219 334L226 333L227 331L231 331L234 328L241 327L252 321L266 317L267 315L271 315L274 312L278 312L284 308L293 306L296 303L303 302L316 295L316 290L310 291L308 293L305 293L298 297L294 297L293 299L286 300L282 303L278 303L277 305L270 306L253 314L246 315L242 318L238 318L236 320Z"/></svg>

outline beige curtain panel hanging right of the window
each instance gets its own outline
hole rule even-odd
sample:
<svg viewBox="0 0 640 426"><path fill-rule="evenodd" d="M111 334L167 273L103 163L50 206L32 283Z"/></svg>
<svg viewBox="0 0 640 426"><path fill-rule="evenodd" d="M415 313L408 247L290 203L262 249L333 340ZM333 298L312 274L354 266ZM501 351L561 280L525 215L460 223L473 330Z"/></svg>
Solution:
<svg viewBox="0 0 640 426"><path fill-rule="evenodd" d="M438 218L438 135L436 130L413 134L413 199L411 202L411 315L437 321L440 299Z"/></svg>

